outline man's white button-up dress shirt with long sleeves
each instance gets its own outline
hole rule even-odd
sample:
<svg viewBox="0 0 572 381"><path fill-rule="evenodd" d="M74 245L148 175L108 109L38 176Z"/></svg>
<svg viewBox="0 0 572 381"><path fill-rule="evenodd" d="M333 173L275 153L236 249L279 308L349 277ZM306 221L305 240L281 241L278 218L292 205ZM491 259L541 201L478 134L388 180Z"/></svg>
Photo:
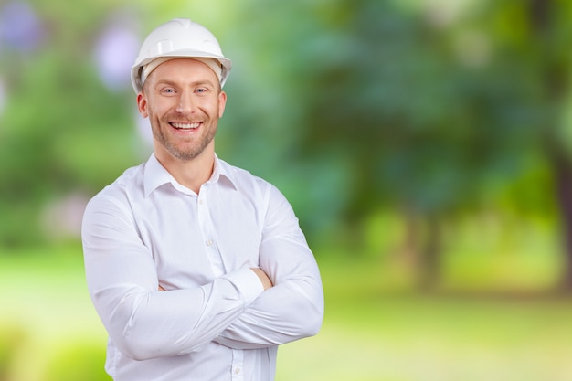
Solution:
<svg viewBox="0 0 572 381"><path fill-rule="evenodd" d="M270 381L277 345L320 329L322 282L291 205L218 158L198 195L154 155L128 169L90 200L82 240L116 381Z"/></svg>

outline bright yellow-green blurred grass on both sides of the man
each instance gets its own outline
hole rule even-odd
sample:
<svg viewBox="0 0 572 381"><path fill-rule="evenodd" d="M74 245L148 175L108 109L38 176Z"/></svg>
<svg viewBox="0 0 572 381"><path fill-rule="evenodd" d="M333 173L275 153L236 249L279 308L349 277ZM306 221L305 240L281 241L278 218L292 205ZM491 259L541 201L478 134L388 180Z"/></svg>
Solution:
<svg viewBox="0 0 572 381"><path fill-rule="evenodd" d="M79 246L22 254L0 256L0 379L109 380ZM572 379L569 300L397 292L378 259L320 265L322 332L281 347L277 381Z"/></svg>

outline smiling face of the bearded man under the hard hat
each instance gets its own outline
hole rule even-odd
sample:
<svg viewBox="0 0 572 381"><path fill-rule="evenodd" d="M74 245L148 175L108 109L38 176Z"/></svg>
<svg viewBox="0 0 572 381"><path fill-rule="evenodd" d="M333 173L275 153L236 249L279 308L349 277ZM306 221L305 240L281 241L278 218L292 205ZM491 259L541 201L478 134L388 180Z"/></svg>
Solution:
<svg viewBox="0 0 572 381"><path fill-rule="evenodd" d="M176 58L154 69L137 105L149 117L159 160L190 161L206 149L214 152L226 101L217 75L202 62Z"/></svg>

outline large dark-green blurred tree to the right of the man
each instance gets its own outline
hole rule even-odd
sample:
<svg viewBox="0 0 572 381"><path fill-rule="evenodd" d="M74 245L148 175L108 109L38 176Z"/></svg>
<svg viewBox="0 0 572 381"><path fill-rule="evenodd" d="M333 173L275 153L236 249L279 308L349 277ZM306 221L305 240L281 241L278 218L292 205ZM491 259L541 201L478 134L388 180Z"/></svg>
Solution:
<svg viewBox="0 0 572 381"><path fill-rule="evenodd" d="M487 2L446 22L423 2L252 4L267 20L251 26L253 49L273 59L265 69L280 71L273 85L281 79L286 98L287 110L268 113L273 125L285 117L302 126L288 130L282 160L310 163L297 165L327 184L321 194L342 206L354 243L366 216L397 207L426 287L439 280L443 222L507 192L511 207L553 217L550 201L532 205L514 190L531 168L549 168L539 137L553 110L537 51L522 43L526 26L511 25L526 15L519 2ZM295 26L276 22L291 18ZM332 166L341 175L319 177ZM319 218L316 206L304 218Z"/></svg>

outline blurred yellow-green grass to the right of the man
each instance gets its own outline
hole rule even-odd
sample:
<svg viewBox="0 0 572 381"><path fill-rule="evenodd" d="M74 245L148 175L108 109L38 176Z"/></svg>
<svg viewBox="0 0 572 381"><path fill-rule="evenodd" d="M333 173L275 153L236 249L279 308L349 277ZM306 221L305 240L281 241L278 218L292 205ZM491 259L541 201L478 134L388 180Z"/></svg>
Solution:
<svg viewBox="0 0 572 381"><path fill-rule="evenodd" d="M279 381L572 379L568 300L395 294L372 263L343 269L323 264L323 330L281 348Z"/></svg>

